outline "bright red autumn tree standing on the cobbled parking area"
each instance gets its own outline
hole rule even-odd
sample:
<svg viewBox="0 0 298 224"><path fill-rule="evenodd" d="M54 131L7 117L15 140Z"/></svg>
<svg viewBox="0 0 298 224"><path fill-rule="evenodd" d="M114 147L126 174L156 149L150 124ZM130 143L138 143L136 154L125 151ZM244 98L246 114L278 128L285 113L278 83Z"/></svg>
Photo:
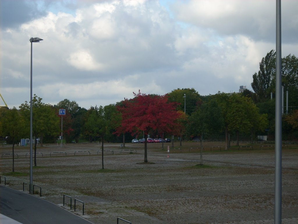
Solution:
<svg viewBox="0 0 298 224"><path fill-rule="evenodd" d="M130 132L132 136L144 132L145 159L147 160L147 135L151 131L174 133L177 127L176 120L179 113L176 103L169 102L167 95L146 95L134 93L134 99L124 99L122 106L117 110L122 113L122 122L116 133Z"/></svg>

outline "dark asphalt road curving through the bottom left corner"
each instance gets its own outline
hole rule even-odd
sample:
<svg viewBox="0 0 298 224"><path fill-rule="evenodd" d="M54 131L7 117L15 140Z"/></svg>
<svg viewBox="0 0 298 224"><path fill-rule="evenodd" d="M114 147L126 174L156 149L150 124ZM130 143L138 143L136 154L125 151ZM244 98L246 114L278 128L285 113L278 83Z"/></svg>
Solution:
<svg viewBox="0 0 298 224"><path fill-rule="evenodd" d="M13 223L9 218L23 224L90 224L58 205L3 185L0 185L0 213L4 215L0 216L3 224Z"/></svg>

